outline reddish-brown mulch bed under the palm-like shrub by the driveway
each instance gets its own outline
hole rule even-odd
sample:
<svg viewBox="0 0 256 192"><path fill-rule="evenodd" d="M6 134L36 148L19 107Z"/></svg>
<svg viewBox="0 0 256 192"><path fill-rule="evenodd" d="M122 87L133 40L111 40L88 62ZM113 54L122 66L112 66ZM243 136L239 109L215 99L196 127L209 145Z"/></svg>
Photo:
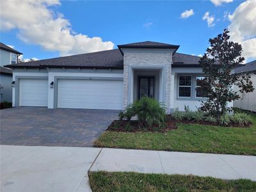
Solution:
<svg viewBox="0 0 256 192"><path fill-rule="evenodd" d="M164 129L159 129L157 125L148 127L138 122L138 120L114 120L108 127L107 131L116 132L167 132L177 129L175 122L167 121Z"/></svg>

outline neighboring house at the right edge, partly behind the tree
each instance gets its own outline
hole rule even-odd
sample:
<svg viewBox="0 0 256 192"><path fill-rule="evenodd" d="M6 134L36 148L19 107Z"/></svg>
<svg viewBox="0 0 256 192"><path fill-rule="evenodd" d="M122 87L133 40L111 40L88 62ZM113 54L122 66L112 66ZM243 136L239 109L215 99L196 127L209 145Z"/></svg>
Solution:
<svg viewBox="0 0 256 192"><path fill-rule="evenodd" d="M256 60L246 63L243 67L236 68L235 72L241 75L244 73L250 74L255 90L250 93L239 92L241 98L234 101L234 107L256 112ZM238 90L236 86L235 90Z"/></svg>

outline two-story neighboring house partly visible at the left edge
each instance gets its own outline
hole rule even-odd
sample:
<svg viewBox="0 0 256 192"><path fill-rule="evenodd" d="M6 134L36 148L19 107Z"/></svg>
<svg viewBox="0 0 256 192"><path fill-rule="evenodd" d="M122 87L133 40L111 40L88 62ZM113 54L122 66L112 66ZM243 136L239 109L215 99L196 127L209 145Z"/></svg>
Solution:
<svg viewBox="0 0 256 192"><path fill-rule="evenodd" d="M18 63L20 54L22 53L0 42L0 102L12 102L12 70L3 66Z"/></svg>

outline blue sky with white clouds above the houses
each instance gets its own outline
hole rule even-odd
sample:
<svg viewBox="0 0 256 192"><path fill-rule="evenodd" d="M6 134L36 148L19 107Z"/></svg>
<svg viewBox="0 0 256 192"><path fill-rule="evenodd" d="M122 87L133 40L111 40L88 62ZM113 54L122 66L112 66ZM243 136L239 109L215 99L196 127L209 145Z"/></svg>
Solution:
<svg viewBox="0 0 256 192"><path fill-rule="evenodd" d="M246 61L256 60L256 0L1 1L0 40L39 60L154 41L200 56L230 30Z"/></svg>

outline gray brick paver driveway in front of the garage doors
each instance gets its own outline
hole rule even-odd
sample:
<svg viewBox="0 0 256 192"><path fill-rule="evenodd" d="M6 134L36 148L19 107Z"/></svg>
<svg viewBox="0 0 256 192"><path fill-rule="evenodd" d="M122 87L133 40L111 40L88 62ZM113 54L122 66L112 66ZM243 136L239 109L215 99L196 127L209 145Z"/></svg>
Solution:
<svg viewBox="0 0 256 192"><path fill-rule="evenodd" d="M92 147L118 111L11 108L1 113L2 145Z"/></svg>

